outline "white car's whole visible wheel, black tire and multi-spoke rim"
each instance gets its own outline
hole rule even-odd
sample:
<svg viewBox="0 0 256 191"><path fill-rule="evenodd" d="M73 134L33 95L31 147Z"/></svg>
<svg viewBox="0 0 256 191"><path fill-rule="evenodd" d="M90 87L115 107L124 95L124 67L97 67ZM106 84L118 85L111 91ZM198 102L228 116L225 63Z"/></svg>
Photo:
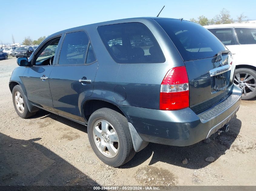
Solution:
<svg viewBox="0 0 256 191"><path fill-rule="evenodd" d="M235 76L234 76L234 83L237 84L238 87L242 89L242 100L250 100L256 97L256 86L255 86L256 71L255 70L252 70L250 68L236 69Z"/></svg>

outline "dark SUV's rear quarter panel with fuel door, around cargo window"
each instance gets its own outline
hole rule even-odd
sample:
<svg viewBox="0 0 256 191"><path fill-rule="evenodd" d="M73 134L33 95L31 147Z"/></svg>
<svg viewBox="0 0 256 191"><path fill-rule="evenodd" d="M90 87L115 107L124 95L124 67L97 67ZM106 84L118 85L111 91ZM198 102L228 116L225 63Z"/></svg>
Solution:
<svg viewBox="0 0 256 191"><path fill-rule="evenodd" d="M86 99L106 100L117 106L159 109L160 86L163 78L171 68L185 64L178 50L157 22L150 18L131 19L131 22L140 22L148 27L164 53L165 62L118 64L109 55L96 27L91 27L88 33L99 67L95 77L93 94ZM125 100L117 101L114 99L116 86L125 88ZM122 95L120 96L122 97Z"/></svg>

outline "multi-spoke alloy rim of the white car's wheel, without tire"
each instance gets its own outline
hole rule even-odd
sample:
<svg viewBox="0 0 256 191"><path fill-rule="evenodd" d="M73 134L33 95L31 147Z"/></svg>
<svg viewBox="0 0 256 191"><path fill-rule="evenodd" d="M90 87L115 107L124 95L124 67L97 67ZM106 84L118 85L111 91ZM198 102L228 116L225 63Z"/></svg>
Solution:
<svg viewBox="0 0 256 191"><path fill-rule="evenodd" d="M236 74L234 83L242 90L243 96L249 96L256 91L256 79L248 73Z"/></svg>

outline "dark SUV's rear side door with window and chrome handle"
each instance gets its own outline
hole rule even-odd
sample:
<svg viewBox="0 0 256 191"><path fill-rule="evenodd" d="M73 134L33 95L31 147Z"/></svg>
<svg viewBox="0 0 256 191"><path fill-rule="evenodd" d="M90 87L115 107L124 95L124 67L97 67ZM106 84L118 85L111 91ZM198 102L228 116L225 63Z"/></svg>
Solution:
<svg viewBox="0 0 256 191"><path fill-rule="evenodd" d="M88 35L84 31L67 33L50 75L53 106L58 114L84 122L81 102L92 94L97 68Z"/></svg>

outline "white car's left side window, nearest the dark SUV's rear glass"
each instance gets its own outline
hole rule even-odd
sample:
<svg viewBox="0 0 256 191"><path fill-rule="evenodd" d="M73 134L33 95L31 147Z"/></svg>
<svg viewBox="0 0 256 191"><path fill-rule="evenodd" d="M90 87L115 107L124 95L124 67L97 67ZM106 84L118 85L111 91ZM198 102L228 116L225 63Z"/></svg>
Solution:
<svg viewBox="0 0 256 191"><path fill-rule="evenodd" d="M234 45L234 38L231 28L208 29L213 33L224 45Z"/></svg>

